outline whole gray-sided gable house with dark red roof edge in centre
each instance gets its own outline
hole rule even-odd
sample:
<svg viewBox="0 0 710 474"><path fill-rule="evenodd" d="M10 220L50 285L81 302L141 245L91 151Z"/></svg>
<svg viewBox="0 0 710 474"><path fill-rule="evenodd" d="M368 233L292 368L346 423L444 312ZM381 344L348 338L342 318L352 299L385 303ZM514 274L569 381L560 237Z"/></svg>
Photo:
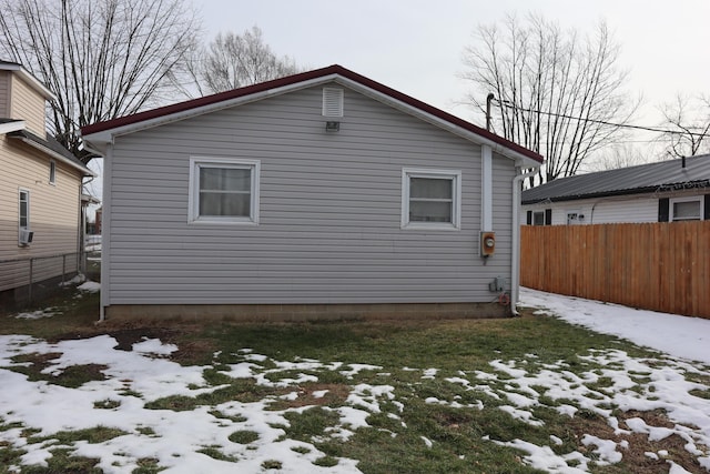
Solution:
<svg viewBox="0 0 710 474"><path fill-rule="evenodd" d="M510 313L518 171L541 157L339 65L82 134L102 317Z"/></svg>

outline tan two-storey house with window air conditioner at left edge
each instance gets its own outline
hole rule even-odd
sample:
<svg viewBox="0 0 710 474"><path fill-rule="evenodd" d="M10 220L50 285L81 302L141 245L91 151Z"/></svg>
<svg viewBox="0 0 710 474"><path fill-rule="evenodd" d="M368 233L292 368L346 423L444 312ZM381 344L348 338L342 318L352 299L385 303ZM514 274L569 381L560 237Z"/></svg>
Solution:
<svg viewBox="0 0 710 474"><path fill-rule="evenodd" d="M47 134L52 99L20 64L0 61L0 302L22 300L30 273L42 282L79 269L82 179L93 173Z"/></svg>

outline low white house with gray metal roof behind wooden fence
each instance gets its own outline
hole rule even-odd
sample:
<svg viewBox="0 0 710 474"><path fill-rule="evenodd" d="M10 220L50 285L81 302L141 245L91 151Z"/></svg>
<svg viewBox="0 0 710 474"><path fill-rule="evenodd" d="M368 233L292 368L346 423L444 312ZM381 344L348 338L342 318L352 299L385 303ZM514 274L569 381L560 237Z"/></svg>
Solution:
<svg viewBox="0 0 710 474"><path fill-rule="evenodd" d="M561 178L523 192L521 223L710 220L710 155Z"/></svg>

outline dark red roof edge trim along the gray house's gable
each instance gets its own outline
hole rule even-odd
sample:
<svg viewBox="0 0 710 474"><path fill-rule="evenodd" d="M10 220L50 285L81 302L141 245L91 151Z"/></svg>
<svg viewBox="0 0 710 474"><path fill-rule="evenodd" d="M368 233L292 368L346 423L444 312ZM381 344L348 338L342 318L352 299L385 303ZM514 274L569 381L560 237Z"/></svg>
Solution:
<svg viewBox="0 0 710 474"><path fill-rule="evenodd" d="M296 84L298 82L305 82L313 79L323 78L326 75L337 74L343 78L349 79L354 82L357 82L366 88L373 89L379 93L388 95L395 100L406 103L415 109L419 109L423 112L429 113L438 119L442 119L446 122L449 122L454 125L460 127L462 129L468 130L477 135L480 135L487 140L490 140L495 143L498 143L505 148L508 148L513 151L516 151L525 157L528 157L539 163L542 162L542 157L538 153L526 149L517 143L508 141L503 137L498 137L495 133L491 133L485 129L474 125L466 120L459 119L456 115L453 115L448 112L445 112L440 109L437 109L428 103L422 102L420 100L414 99L410 95L398 92L387 85L384 85L379 82L373 81L364 75L361 75L356 72L353 72L348 69L343 68L342 65L334 64L327 68L316 69L308 72L302 72L294 75L288 75L285 78L274 79L272 81L261 82L254 85L247 85L245 88L233 89L226 92L220 92L213 95L205 95L199 99L189 100L185 102L174 103L172 105L161 107L159 109L146 110L145 112L139 112L133 115L121 117L119 119L108 120L105 122L98 122L91 125L82 127L81 134L89 135L91 133L103 132L111 129L116 129L119 127L125 127L133 123L139 123L146 120L158 119L160 117L170 115L173 113L184 112L191 109L196 109L200 107L211 105L213 103L223 102L231 99L237 99L242 97L246 97L250 94L264 92L271 89L277 89L286 85Z"/></svg>

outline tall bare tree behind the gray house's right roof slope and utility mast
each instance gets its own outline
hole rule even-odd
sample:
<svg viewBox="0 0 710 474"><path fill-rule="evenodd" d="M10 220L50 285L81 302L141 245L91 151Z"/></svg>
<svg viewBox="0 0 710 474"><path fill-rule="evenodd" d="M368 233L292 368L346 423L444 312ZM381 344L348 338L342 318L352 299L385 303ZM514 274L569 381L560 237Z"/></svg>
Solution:
<svg viewBox="0 0 710 474"><path fill-rule="evenodd" d="M466 48L468 103L485 113L495 95L493 131L546 158L546 181L575 174L585 159L622 133L635 112L617 67L619 47L601 22L580 39L540 17L480 26Z"/></svg>

